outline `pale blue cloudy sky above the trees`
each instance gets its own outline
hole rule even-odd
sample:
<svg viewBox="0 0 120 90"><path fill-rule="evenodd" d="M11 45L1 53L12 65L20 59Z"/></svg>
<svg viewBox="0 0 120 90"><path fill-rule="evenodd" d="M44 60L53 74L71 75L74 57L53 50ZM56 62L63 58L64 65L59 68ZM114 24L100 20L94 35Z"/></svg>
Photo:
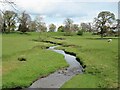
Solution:
<svg viewBox="0 0 120 90"><path fill-rule="evenodd" d="M0 0L4 1L4 0ZM10 0L9 0L10 1ZM26 11L32 19L42 16L49 25L54 23L59 26L64 24L66 18L71 18L74 23L93 22L101 11L110 11L118 18L119 0L11 0L16 5L18 12ZM0 5L1 10L12 10L8 5Z"/></svg>

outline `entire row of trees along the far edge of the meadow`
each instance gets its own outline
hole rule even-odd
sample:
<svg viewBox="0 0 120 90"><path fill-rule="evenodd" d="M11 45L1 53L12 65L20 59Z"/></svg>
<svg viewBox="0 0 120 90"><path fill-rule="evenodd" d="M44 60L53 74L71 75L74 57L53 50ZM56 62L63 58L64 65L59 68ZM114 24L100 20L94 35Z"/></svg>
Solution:
<svg viewBox="0 0 120 90"><path fill-rule="evenodd" d="M117 23L115 23L117 22ZM115 15L109 11L102 11L98 14L92 23L74 24L70 18L64 20L64 25L57 26L53 23L49 25L49 32L66 32L66 35L72 35L73 32L82 34L83 32L93 32L100 34L101 38L105 35L116 33L115 29L119 27L119 19L115 19ZM6 10L0 13L0 32L10 33L13 31L25 32L47 32L46 23L41 16L37 16L34 20L25 11L18 14L14 11Z"/></svg>

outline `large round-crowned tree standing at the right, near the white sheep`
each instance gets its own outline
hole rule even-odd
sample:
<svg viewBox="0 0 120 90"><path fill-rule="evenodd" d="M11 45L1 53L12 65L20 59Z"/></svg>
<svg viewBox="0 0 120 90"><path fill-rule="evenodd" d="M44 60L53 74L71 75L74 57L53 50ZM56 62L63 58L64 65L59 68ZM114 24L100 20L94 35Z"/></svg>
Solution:
<svg viewBox="0 0 120 90"><path fill-rule="evenodd" d="M109 11L102 11L98 14L97 18L95 18L97 28L100 29L101 38L103 38L114 20L115 15Z"/></svg>

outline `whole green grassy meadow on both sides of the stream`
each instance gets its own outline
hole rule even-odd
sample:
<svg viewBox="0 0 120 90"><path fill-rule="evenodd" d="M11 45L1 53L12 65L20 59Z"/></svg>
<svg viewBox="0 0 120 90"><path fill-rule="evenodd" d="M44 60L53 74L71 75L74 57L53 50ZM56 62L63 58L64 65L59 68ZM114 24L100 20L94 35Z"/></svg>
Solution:
<svg viewBox="0 0 120 90"><path fill-rule="evenodd" d="M38 37L44 42L35 42ZM61 39L62 38L62 39ZM108 43L107 39L112 38ZM85 67L83 74L76 75L62 88L116 88L118 87L118 39L84 33L83 36L64 36L64 33L49 32L39 35L2 35L3 88L28 87L39 77L68 66L64 57L44 47L61 44L57 49L71 52ZM19 61L24 56L26 61Z"/></svg>

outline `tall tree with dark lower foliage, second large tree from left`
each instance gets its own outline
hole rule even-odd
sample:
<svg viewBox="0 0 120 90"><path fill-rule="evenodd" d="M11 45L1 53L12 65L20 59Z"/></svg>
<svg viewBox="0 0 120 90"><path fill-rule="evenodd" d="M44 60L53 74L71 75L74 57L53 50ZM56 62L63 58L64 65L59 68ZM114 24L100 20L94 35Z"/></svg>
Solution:
<svg viewBox="0 0 120 90"><path fill-rule="evenodd" d="M18 28L18 31L21 31L23 33L29 31L29 23L31 21L31 17L29 14L23 12L22 15L20 16L19 18L19 28Z"/></svg>

